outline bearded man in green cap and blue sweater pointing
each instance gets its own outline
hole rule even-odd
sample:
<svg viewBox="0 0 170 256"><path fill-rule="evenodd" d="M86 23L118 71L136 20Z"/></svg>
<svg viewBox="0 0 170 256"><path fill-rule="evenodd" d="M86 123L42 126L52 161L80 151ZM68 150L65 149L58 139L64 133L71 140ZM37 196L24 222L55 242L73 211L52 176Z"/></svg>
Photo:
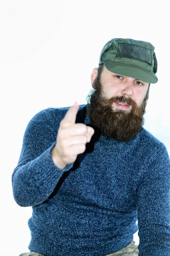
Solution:
<svg viewBox="0 0 170 256"><path fill-rule="evenodd" d="M22 256L170 256L170 159L142 127L156 71L152 44L114 38L87 105L31 119L12 176L15 201L33 209Z"/></svg>

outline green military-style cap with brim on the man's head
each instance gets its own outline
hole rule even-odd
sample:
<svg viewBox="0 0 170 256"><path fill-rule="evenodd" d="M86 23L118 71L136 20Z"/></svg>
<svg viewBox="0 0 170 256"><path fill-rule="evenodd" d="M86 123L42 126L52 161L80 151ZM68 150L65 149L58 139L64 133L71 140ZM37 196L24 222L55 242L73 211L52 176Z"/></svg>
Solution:
<svg viewBox="0 0 170 256"><path fill-rule="evenodd" d="M116 74L155 84L158 81L155 47L144 41L113 38L105 44L99 65Z"/></svg>

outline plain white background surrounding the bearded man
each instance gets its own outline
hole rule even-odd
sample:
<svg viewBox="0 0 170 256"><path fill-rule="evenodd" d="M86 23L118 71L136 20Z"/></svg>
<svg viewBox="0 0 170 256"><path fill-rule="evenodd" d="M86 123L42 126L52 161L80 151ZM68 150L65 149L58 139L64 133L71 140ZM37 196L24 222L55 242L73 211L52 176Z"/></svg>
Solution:
<svg viewBox="0 0 170 256"><path fill-rule="evenodd" d="M31 207L19 207L11 189L26 125L42 109L86 103L91 72L111 38L155 46L159 81L150 87L144 127L170 154L168 10L164 0L0 1L1 256L28 252Z"/></svg>

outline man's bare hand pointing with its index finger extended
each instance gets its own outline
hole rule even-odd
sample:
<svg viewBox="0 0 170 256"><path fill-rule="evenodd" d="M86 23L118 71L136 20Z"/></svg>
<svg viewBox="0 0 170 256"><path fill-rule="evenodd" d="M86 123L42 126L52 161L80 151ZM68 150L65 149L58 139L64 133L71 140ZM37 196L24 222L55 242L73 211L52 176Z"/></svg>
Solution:
<svg viewBox="0 0 170 256"><path fill-rule="evenodd" d="M79 105L77 102L69 108L60 122L57 144L51 155L54 163L64 169L68 163L74 163L78 154L85 151L86 143L90 142L94 129L82 123L75 123Z"/></svg>

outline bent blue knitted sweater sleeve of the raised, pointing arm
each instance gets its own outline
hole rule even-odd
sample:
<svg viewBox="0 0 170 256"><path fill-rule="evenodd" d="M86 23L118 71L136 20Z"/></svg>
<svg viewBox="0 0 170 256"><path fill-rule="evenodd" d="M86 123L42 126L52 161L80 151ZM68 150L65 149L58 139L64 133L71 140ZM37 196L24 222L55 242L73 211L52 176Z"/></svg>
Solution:
<svg viewBox="0 0 170 256"><path fill-rule="evenodd" d="M62 170L52 160L51 150L56 143L58 128L59 122L54 122L48 109L37 113L28 123L20 159L12 174L14 199L22 207L45 201L63 173L73 166L68 164Z"/></svg>

